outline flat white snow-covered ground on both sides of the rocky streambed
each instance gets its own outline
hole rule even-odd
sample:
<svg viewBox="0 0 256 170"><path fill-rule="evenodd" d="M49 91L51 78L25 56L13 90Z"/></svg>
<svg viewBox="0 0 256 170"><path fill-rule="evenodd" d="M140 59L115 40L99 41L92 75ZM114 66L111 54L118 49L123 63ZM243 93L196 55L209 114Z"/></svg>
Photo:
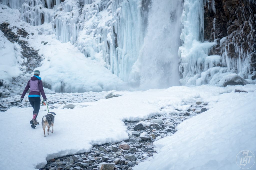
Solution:
<svg viewBox="0 0 256 170"><path fill-rule="evenodd" d="M234 89L248 93L234 93ZM256 86L174 86L147 91L117 91L122 96L80 103L56 113L54 133L44 137L32 129L32 108L11 108L1 114L0 165L3 169L35 169L59 156L89 151L93 144L128 138L124 120L143 120L176 113L188 103L208 103L208 111L177 126L177 132L154 143L157 154L134 169L239 169L241 150L256 153L254 130ZM38 120L47 111L42 106Z"/></svg>

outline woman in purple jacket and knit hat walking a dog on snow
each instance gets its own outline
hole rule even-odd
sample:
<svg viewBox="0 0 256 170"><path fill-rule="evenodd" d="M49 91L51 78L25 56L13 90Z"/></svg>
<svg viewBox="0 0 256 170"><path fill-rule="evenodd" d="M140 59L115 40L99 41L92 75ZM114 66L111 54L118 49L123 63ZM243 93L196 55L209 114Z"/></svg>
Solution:
<svg viewBox="0 0 256 170"><path fill-rule="evenodd" d="M34 129L36 125L39 123L36 120L36 117L38 115L39 109L40 109L40 93L42 97L44 98L44 101L46 101L46 96L43 88L43 83L41 81L41 77L39 77L40 71L36 70L34 72L34 76L30 77L30 80L28 81L27 86L25 87L25 90L23 91L20 101L23 100L25 94L27 93L28 89L30 88L30 92L28 95L28 100L31 106L33 107L33 119L30 121L31 127Z"/></svg>

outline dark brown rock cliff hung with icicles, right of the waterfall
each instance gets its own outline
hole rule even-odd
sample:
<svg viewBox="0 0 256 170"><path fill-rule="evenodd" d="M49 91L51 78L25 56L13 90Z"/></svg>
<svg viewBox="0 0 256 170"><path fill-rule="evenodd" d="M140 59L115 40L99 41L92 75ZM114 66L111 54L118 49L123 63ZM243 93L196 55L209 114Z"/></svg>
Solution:
<svg viewBox="0 0 256 170"><path fill-rule="evenodd" d="M204 28L205 41L217 43L210 53L221 56L222 66L256 79L255 1L206 0Z"/></svg>

